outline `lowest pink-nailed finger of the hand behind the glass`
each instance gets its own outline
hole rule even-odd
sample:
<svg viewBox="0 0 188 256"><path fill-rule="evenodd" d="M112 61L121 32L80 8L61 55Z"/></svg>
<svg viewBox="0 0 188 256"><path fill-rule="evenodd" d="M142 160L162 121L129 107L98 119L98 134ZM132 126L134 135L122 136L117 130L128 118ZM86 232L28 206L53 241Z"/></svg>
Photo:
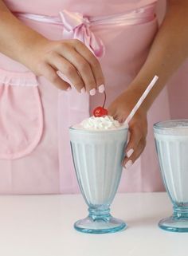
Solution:
<svg viewBox="0 0 188 256"><path fill-rule="evenodd" d="M131 152L131 156L127 156L123 160L123 166L126 169L128 169L129 167L131 167L133 163L135 163L135 160L139 158L145 146L146 146L146 139L143 138L142 140L139 140L139 144L137 144L137 147L134 149L134 151Z"/></svg>

